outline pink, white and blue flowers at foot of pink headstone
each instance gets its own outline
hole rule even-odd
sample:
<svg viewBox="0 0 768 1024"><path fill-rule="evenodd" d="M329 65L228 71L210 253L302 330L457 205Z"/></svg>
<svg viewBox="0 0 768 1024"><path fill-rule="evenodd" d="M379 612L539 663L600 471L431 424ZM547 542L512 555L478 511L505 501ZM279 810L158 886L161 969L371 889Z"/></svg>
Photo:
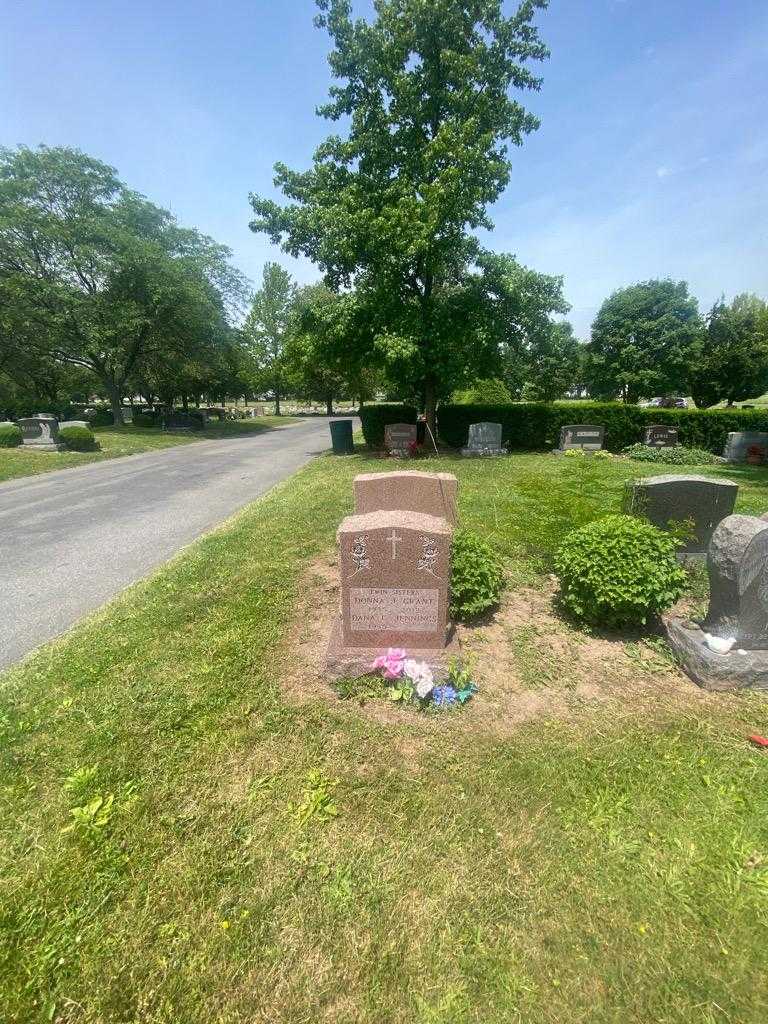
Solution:
<svg viewBox="0 0 768 1024"><path fill-rule="evenodd" d="M456 658L449 663L442 680L435 679L426 662L409 657L403 647L390 647L386 654L375 659L372 668L386 680L390 700L421 709L460 708L477 692L469 668Z"/></svg>

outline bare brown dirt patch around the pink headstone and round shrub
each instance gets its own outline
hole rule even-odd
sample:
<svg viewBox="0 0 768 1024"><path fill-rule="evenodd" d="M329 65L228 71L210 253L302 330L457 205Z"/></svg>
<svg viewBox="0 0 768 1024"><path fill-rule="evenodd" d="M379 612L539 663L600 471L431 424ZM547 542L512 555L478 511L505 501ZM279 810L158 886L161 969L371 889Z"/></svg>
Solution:
<svg viewBox="0 0 768 1024"><path fill-rule="evenodd" d="M722 701L680 672L660 636L581 630L558 613L555 597L554 579L540 588L511 588L486 621L458 627L480 686L461 713L425 715L371 696L342 700L323 675L339 603L336 558L329 553L314 559L301 581L284 689L292 701L332 700L339 711L393 725L408 721L427 733L447 727L498 736L537 719L573 719L606 706L620 719L649 719Z"/></svg>

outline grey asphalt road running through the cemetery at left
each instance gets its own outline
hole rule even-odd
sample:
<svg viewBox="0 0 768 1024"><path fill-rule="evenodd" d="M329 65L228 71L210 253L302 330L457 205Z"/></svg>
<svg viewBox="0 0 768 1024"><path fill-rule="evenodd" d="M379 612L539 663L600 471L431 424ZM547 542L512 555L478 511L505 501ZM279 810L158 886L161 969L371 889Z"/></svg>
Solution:
<svg viewBox="0 0 768 1024"><path fill-rule="evenodd" d="M312 418L0 483L0 669L328 447Z"/></svg>

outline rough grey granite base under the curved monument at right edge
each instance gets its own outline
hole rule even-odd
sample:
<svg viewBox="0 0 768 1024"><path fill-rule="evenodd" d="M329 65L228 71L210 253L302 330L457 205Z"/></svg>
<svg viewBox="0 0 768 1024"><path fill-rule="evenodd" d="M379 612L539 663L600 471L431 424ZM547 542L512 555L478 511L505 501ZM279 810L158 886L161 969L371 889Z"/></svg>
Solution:
<svg viewBox="0 0 768 1024"><path fill-rule="evenodd" d="M768 690L768 650L733 648L718 654L707 646L700 626L675 615L662 621L680 667L701 689Z"/></svg>

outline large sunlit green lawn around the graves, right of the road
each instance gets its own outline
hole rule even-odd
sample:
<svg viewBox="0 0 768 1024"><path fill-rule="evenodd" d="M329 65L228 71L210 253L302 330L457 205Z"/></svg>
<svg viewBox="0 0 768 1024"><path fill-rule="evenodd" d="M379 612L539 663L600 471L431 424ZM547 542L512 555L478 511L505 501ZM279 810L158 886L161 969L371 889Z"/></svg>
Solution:
<svg viewBox="0 0 768 1024"><path fill-rule="evenodd" d="M382 468L316 460L2 677L3 1020L768 1019L765 698L582 703L499 739L471 705L385 724L286 697L302 574ZM652 471L423 468L532 580ZM768 508L768 470L707 472Z"/></svg>

